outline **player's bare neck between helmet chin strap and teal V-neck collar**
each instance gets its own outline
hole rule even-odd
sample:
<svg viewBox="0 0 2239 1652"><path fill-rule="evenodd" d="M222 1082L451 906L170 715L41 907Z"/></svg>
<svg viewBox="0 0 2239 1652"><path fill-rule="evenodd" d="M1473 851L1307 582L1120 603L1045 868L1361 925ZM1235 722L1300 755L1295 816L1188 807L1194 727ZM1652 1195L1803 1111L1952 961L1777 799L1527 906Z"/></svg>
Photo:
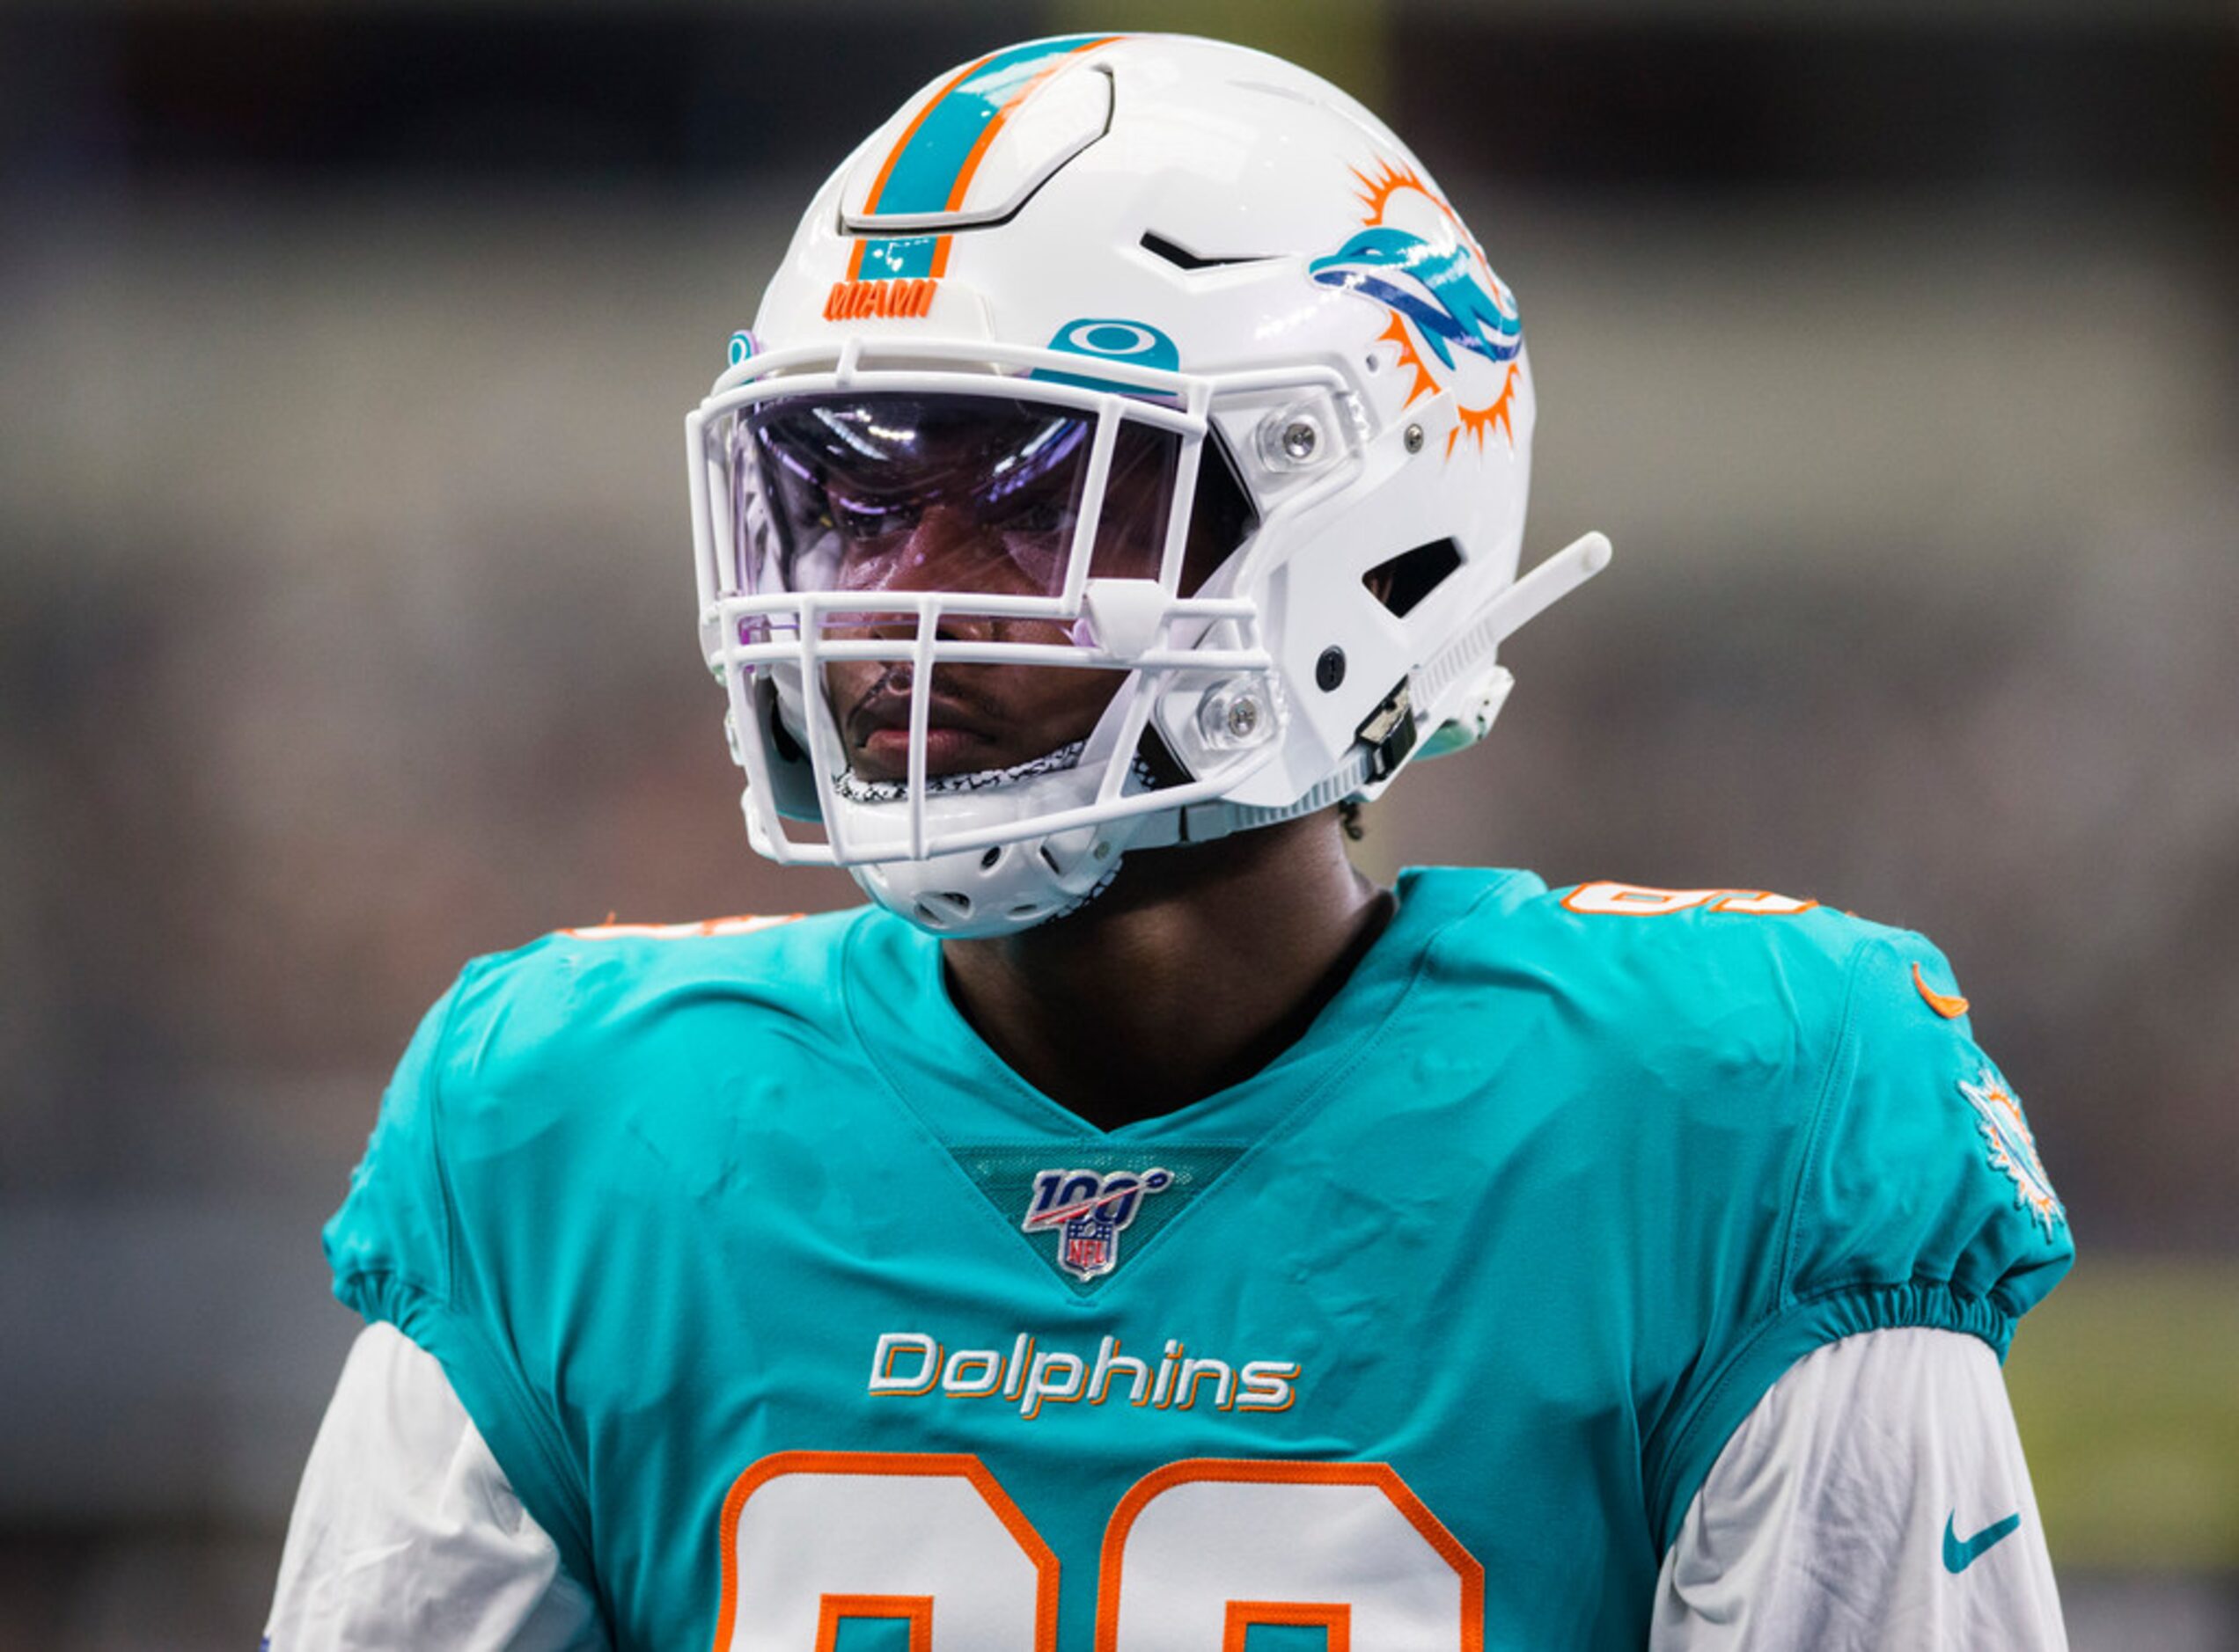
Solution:
<svg viewBox="0 0 2239 1652"><path fill-rule="evenodd" d="M1258 1072L1390 918L1334 815L1131 855L1055 924L943 945L956 1007L1019 1077L1099 1128Z"/></svg>

